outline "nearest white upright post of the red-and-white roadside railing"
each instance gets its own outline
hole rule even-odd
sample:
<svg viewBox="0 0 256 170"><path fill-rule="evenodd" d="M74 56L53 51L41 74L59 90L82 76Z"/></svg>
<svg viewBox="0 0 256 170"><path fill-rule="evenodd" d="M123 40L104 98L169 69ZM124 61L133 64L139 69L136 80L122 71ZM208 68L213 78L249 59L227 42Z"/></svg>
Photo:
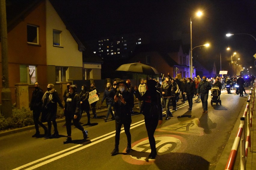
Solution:
<svg viewBox="0 0 256 170"><path fill-rule="evenodd" d="M245 118L240 117L240 124L245 125ZM245 170L246 169L246 160L245 160L245 126L242 129L242 135L240 139L240 169Z"/></svg>

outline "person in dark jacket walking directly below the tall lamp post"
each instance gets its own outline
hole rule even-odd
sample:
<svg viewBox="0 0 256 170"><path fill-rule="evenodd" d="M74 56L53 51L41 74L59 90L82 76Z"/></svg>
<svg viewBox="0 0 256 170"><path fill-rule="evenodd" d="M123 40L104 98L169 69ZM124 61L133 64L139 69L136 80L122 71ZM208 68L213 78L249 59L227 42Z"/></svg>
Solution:
<svg viewBox="0 0 256 170"><path fill-rule="evenodd" d="M187 102L188 102L188 110L192 110L192 105L193 105L193 96L196 93L196 85L192 81L191 78L187 78L187 82L184 85L184 92L183 94L187 95Z"/></svg>

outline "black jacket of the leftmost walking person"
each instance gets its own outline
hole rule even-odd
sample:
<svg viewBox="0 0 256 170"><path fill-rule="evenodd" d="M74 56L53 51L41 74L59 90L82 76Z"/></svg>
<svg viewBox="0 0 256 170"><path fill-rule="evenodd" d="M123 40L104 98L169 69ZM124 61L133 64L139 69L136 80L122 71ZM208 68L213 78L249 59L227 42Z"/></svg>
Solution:
<svg viewBox="0 0 256 170"><path fill-rule="evenodd" d="M32 98L30 102L30 110L42 110L42 97L44 95L44 92L41 88L38 90L34 90L32 92Z"/></svg>

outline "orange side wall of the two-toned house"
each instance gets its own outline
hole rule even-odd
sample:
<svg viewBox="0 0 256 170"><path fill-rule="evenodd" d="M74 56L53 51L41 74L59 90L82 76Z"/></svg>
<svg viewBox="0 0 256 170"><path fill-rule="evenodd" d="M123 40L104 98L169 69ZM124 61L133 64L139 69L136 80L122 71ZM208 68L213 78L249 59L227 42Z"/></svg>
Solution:
<svg viewBox="0 0 256 170"><path fill-rule="evenodd" d="M41 85L47 84L46 80L46 11L45 2L39 4L26 18L8 32L8 70L9 88L12 103L16 102L15 84L20 82L20 65L36 65L37 80ZM39 26L39 45L27 43L27 24ZM1 47L0 47L1 48ZM2 77L2 63L1 63ZM2 79L1 79L2 80ZM0 83L2 91L2 83ZM29 101L34 85L29 85ZM31 91L31 92L30 92ZM1 94L0 94L1 97ZM0 100L1 101L1 100Z"/></svg>

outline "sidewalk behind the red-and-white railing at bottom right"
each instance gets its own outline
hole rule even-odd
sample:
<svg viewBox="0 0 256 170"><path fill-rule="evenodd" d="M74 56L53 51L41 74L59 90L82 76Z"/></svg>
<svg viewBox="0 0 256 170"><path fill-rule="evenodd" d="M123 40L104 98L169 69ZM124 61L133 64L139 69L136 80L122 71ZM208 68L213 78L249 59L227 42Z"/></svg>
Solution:
<svg viewBox="0 0 256 170"><path fill-rule="evenodd" d="M248 98L247 98L248 99ZM239 117L242 117L244 113L244 109L246 106L246 101L242 106L242 110L240 112ZM256 101L254 102L254 110L253 110L253 117L252 117L252 128L251 128L251 151L248 151L247 161L246 161L246 170L255 170L256 169ZM230 134L228 142L224 148L224 151L221 154L220 160L217 163L215 170L224 170L227 164L228 157L230 155L230 151L232 149L233 143L235 141L235 137L238 131L238 127L240 124L240 119L237 119L236 124L234 125L233 131ZM245 135L247 131L245 130ZM246 137L246 136L245 136ZM233 170L240 170L240 147L237 151L236 161L233 167Z"/></svg>

